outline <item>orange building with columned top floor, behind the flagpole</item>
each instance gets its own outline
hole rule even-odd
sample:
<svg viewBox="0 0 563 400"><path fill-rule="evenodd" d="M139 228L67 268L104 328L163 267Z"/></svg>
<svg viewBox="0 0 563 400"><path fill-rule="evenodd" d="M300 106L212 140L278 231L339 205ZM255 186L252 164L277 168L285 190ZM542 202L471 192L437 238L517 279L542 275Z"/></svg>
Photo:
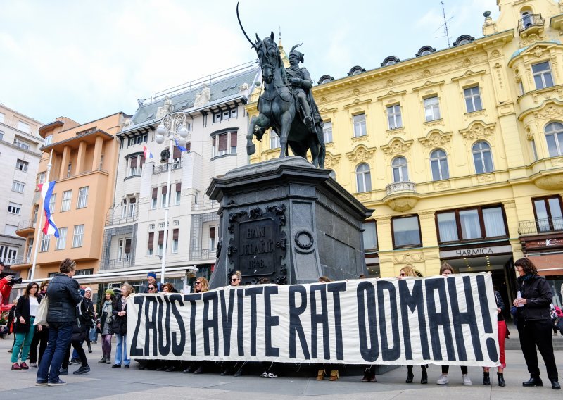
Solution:
<svg viewBox="0 0 563 400"><path fill-rule="evenodd" d="M26 239L25 258L23 263L11 268L19 270L22 277L31 277L36 237L41 242L34 280L58 273L64 258L76 261L77 278L81 282L90 282L88 277L97 273L105 215L113 203L115 188L119 149L115 134L121 131L125 118L127 115L115 113L80 125L61 117L39 128L45 143L37 182L47 181L51 159L48 180L55 180L56 184L50 208L59 237L41 232L39 211L43 209L43 201L36 190L31 220L16 231Z"/></svg>

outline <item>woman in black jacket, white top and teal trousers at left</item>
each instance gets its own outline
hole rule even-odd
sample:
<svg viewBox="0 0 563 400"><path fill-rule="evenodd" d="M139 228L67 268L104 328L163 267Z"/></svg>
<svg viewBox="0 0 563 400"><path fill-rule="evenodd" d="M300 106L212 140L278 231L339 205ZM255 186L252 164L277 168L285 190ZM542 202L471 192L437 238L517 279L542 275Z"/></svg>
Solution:
<svg viewBox="0 0 563 400"><path fill-rule="evenodd" d="M36 294L39 292L39 285L35 282L30 282L23 292L23 296L18 299L18 304L15 306L15 344L12 349L12 370L27 370L27 355L30 353L31 341L35 332L33 325L37 308L39 308L39 299ZM39 328L40 329L39 325ZM18 355L20 347L22 348L22 363L18 364Z"/></svg>

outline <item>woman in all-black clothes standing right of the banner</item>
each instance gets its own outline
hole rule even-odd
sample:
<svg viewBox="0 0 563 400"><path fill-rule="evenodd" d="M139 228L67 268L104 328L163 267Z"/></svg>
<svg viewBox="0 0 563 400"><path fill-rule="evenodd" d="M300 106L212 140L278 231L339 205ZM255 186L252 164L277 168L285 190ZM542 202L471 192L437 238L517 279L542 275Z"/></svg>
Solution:
<svg viewBox="0 0 563 400"><path fill-rule="evenodd" d="M538 275L536 265L529 258L520 258L514 266L520 276L517 279L519 296L514 299L513 304L517 307L520 346L530 373L530 379L522 382L522 386L543 386L536 351L538 346L552 389L561 389L553 354L553 323L550 316L553 294L550 285L544 277Z"/></svg>

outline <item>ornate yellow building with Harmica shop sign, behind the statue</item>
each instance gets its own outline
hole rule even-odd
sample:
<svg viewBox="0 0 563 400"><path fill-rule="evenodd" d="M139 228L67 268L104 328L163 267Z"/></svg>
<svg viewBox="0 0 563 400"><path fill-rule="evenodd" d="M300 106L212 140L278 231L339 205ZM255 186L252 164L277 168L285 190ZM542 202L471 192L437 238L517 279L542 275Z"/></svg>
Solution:
<svg viewBox="0 0 563 400"><path fill-rule="evenodd" d="M484 14L481 38L422 46L341 79L324 75L312 89L325 168L375 210L364 237L372 276L405 265L437 275L448 261L458 272L491 271L508 300L514 261L526 255L559 294L563 4L497 3L500 16ZM277 157L276 139L257 142L251 163Z"/></svg>

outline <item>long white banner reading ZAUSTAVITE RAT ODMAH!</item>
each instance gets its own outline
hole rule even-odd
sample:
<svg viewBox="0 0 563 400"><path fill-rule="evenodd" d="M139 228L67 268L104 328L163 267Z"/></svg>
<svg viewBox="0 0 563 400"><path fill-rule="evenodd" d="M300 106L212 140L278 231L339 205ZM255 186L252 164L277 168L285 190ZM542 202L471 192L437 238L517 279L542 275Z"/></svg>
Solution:
<svg viewBox="0 0 563 400"><path fill-rule="evenodd" d="M137 359L500 365L488 273L137 294L127 315Z"/></svg>

